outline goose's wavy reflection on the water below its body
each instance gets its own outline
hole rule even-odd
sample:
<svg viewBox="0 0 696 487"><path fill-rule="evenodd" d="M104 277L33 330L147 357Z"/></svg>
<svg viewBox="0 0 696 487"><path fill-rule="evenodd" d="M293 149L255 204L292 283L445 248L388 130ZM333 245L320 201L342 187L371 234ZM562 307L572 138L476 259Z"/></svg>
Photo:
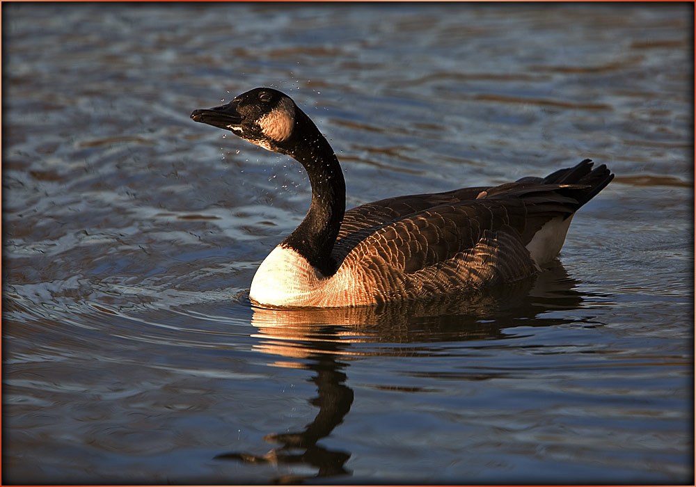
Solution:
<svg viewBox="0 0 696 487"><path fill-rule="evenodd" d="M499 339L512 326L557 326L583 319L541 317L551 311L569 311L584 301L606 301L610 296L581 294L574 288L560 264L526 280L516 287L493 289L472 296L444 296L436 301L384 303L362 308L311 310L271 310L254 308L254 336L260 341L255 349L280 358L269 362L274 367L293 367L315 372L309 379L317 385L318 396L310 404L319 407L315 419L294 433L269 433L267 442L280 444L267 454L228 452L215 458L245 463L303 465L317 469L316 474L287 474L274 479L278 483L299 483L310 477L351 474L345 463L349 452L331 450L317 442L341 424L353 404L354 392L346 385L349 360L361 356L442 354L430 350L428 342L464 342ZM588 325L596 325L584 319ZM365 344L391 343L392 347L370 348ZM403 344L421 344L404 347ZM493 377L493 373L489 374ZM485 374L475 379L490 378ZM292 427L292 426L291 426Z"/></svg>

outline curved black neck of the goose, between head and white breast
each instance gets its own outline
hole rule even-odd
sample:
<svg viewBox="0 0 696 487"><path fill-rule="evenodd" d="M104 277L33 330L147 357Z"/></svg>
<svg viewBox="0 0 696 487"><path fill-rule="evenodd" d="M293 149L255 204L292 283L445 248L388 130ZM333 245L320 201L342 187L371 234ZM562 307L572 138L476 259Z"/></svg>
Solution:
<svg viewBox="0 0 696 487"><path fill-rule="evenodd" d="M302 223L283 240L324 276L336 270L331 259L346 206L346 186L338 158L314 122L297 109L293 135L284 152L304 166L312 185L312 204Z"/></svg>

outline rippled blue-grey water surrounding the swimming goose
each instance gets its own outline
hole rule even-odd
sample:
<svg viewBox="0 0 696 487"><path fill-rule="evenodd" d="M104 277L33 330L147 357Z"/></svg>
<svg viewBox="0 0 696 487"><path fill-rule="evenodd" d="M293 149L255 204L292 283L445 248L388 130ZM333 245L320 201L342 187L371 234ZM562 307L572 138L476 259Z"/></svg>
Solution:
<svg viewBox="0 0 696 487"><path fill-rule="evenodd" d="M3 5L3 483L692 483L692 33L688 3ZM263 85L350 206L617 177L535 282L260 310L308 180L189 113Z"/></svg>

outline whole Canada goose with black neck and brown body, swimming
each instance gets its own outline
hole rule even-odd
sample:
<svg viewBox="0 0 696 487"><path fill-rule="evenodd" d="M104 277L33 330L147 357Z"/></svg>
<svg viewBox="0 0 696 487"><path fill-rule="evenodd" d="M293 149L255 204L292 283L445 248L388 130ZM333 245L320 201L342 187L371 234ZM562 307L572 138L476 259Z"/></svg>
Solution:
<svg viewBox="0 0 696 487"><path fill-rule="evenodd" d="M307 171L310 209L259 266L249 293L258 305L369 305L532 276L560 252L575 211L614 177L585 159L544 178L398 196L345 211L336 154L287 95L255 88L191 118L286 154Z"/></svg>

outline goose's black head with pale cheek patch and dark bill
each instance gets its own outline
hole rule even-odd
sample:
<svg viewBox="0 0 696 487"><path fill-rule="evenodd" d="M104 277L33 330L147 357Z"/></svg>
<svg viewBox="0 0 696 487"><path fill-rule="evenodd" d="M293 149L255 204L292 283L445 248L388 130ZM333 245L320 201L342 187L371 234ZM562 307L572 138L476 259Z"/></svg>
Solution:
<svg viewBox="0 0 696 487"><path fill-rule="evenodd" d="M288 152L299 109L287 95L272 88L254 88L228 104L191 113L196 122L226 129L264 149Z"/></svg>

